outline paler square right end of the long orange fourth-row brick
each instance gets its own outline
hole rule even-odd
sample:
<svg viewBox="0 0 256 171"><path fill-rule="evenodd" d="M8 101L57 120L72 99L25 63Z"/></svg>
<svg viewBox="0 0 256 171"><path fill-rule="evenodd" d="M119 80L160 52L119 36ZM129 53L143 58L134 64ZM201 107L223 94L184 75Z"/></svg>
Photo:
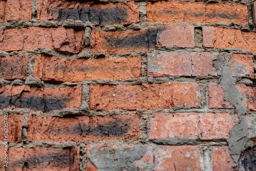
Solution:
<svg viewBox="0 0 256 171"><path fill-rule="evenodd" d="M175 106L198 106L198 83L174 82L173 103Z"/></svg>

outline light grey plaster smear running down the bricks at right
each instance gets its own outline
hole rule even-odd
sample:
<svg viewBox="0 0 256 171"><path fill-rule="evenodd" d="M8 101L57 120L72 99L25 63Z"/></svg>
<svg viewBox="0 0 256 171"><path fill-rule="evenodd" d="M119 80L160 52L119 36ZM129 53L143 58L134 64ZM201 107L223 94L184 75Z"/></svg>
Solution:
<svg viewBox="0 0 256 171"><path fill-rule="evenodd" d="M234 124L230 129L229 138L227 139L230 155L234 160L233 167L236 167L241 154L250 146L250 141L245 120L246 109L242 105L242 95L237 89L236 83L234 82L228 67L228 61L231 55L232 54L220 54L218 58L214 59L212 62L216 69L219 69L219 67L222 68L222 75L219 83L224 89L224 99L236 107L236 113L240 119L239 123Z"/></svg>

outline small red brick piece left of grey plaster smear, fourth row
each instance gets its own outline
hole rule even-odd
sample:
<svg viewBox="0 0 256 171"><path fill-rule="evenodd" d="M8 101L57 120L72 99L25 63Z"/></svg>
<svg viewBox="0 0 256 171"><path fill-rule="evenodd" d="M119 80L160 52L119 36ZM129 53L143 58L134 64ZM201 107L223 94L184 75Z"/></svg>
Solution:
<svg viewBox="0 0 256 171"><path fill-rule="evenodd" d="M224 100L224 89L221 84L211 83L208 85L209 109L232 109L234 106Z"/></svg>

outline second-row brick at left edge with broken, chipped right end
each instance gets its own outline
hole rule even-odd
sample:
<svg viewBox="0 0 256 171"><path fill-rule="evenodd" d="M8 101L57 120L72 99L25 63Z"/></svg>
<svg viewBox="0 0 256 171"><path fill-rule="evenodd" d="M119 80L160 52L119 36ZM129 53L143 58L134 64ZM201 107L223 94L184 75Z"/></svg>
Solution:
<svg viewBox="0 0 256 171"><path fill-rule="evenodd" d="M66 28L0 28L0 50L51 48L60 52L79 53L83 48L83 34L84 30Z"/></svg>

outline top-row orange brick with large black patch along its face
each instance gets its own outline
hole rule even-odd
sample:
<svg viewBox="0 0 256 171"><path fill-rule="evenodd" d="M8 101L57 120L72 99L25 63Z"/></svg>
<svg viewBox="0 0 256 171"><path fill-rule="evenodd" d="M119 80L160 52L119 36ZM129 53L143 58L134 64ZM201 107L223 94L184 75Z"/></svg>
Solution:
<svg viewBox="0 0 256 171"><path fill-rule="evenodd" d="M92 22L95 25L127 25L139 22L139 3L134 1L110 4L67 0L39 0L37 19L66 19Z"/></svg>

